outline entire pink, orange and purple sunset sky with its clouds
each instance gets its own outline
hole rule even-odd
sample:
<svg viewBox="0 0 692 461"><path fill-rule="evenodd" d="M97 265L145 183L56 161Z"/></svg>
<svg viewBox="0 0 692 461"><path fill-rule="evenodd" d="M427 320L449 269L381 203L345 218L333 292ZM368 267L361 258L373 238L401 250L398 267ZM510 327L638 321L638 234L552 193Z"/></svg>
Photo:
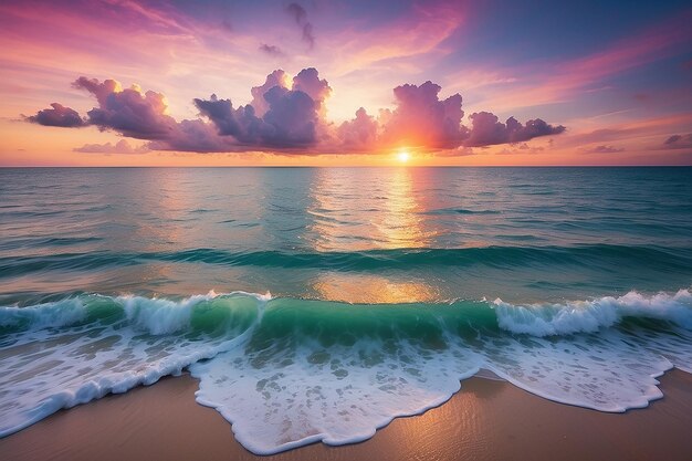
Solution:
<svg viewBox="0 0 692 461"><path fill-rule="evenodd" d="M689 1L0 1L0 166L692 165Z"/></svg>

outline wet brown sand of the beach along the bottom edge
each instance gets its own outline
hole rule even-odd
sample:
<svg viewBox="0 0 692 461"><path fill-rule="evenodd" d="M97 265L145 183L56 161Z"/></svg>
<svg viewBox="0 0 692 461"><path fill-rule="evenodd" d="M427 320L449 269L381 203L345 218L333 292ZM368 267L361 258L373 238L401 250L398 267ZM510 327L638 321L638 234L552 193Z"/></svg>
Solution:
<svg viewBox="0 0 692 461"><path fill-rule="evenodd" d="M692 375L660 378L649 408L604 413L555 404L507 383L472 378L450 401L398 418L363 443L255 457L230 425L195 401L188 375L60 411L0 439L22 460L651 460L692 459Z"/></svg>

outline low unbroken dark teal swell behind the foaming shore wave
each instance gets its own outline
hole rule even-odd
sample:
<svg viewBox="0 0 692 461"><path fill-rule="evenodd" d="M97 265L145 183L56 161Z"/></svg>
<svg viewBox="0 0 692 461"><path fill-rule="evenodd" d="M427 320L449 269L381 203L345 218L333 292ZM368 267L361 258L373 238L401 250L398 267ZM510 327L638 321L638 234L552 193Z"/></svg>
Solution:
<svg viewBox="0 0 692 461"><path fill-rule="evenodd" d="M594 244L577 247L483 247L461 249L397 249L359 252L233 252L193 249L144 253L54 253L0 258L0 277L48 270L96 270L147 262L196 262L222 266L377 271L430 266L491 266L499 269L577 265L612 269L641 265L689 273L692 248Z"/></svg>

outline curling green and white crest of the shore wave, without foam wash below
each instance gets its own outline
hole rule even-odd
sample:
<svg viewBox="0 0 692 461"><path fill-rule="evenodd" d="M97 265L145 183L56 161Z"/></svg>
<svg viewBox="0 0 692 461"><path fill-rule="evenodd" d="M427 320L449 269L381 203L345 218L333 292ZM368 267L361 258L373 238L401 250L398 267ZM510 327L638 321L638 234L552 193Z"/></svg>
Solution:
<svg viewBox="0 0 692 461"><path fill-rule="evenodd" d="M537 337L594 333L627 318L667 321L692 329L692 294L684 289L674 294L643 295L631 291L622 296L534 304L512 304L501 298L493 302L458 300L449 303L349 304L272 298L269 293L217 294L213 291L178 301L87 294L27 307L0 307L0 328L11 333L103 322L115 316L126 318L128 326L153 335L209 332L210 328L224 325L226 321L231 322L229 316L232 313L253 305L254 301L261 301L263 305L275 310L277 315L290 312L291 318L286 318L286 322L295 322L294 327L297 329L317 322L323 328L332 324L336 328L363 328L354 332L358 335L371 334L371 328L379 322L391 327L400 326L405 332L410 316L416 322L428 318L427 323L443 326L441 331L454 329L462 323L474 328L501 328ZM234 325L233 322L231 324Z"/></svg>

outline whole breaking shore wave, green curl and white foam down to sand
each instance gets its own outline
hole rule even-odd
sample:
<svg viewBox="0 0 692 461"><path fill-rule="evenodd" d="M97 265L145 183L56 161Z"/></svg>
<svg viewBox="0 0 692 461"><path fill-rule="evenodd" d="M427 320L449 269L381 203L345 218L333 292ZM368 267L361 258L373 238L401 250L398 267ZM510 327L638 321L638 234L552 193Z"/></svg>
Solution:
<svg viewBox="0 0 692 461"><path fill-rule="evenodd" d="M692 295L344 304L251 293L80 295L0 308L0 437L184 369L258 454L350 443L440 405L481 369L602 411L692 373Z"/></svg>

